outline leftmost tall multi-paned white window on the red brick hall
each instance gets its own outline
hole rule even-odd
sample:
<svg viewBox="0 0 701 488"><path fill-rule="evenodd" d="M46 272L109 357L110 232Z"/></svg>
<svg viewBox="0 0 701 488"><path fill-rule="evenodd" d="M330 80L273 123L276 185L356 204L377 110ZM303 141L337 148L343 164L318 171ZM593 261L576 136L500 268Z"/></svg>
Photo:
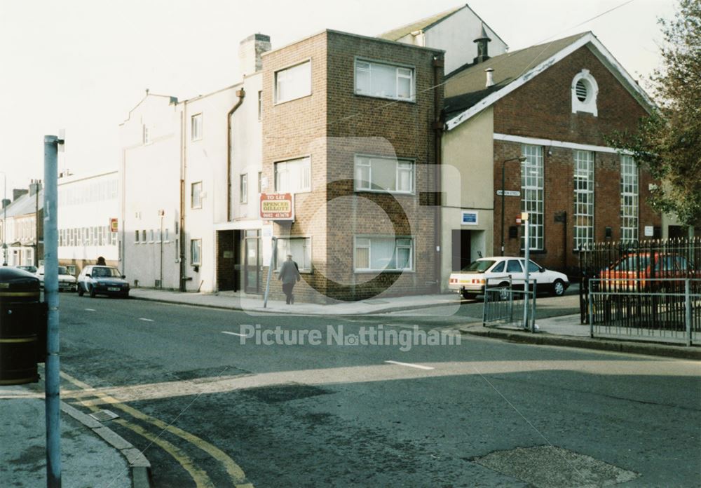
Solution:
<svg viewBox="0 0 701 488"><path fill-rule="evenodd" d="M543 205L545 204L543 146L522 144L521 155L526 161L521 163L521 211L529 212L529 248L542 251L545 248ZM521 224L521 249L525 249L525 222Z"/></svg>

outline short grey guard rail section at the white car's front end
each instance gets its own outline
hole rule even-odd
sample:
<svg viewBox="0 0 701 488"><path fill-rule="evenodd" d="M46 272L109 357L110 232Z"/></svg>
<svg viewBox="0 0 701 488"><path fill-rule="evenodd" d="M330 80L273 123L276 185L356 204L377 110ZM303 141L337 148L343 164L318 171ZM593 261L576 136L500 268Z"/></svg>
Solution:
<svg viewBox="0 0 701 488"><path fill-rule="evenodd" d="M487 287L484 290L482 325L484 327L510 325L533 331L536 327L536 287L535 281L531 291L514 290L512 285ZM526 300L526 294L528 300ZM524 313L525 306L528 306L527 314ZM526 316L526 323L524 323Z"/></svg>

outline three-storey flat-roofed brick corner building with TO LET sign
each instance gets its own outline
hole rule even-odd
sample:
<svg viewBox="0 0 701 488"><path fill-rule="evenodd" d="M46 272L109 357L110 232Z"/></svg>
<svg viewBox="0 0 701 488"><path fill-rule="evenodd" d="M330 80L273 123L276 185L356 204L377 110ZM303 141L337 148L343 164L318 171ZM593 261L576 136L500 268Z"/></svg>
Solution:
<svg viewBox="0 0 701 488"><path fill-rule="evenodd" d="M294 194L271 234L299 299L436 290L442 51L326 30L262 59L262 179Z"/></svg>

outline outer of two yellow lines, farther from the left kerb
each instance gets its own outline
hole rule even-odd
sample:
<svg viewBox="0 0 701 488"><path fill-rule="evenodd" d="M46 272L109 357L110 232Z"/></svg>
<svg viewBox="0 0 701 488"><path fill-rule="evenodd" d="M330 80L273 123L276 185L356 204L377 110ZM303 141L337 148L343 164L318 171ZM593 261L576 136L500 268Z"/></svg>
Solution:
<svg viewBox="0 0 701 488"><path fill-rule="evenodd" d="M222 449L219 449L218 447L210 444L209 442L198 438L196 435L193 435L189 432L183 431L181 428L172 426L168 423L165 423L162 420L156 419L152 416L149 416L147 414L144 414L142 412L139 412L139 410L130 407L128 405L124 405L123 403L119 402L116 398L112 398L111 396L105 394L105 393L100 393L98 391L95 391L95 388L92 386L83 383L83 381L80 381L79 379L76 379L72 376L70 376L67 373L61 372L61 376L64 377L64 379L67 379L70 381L72 384L79 386L80 388L83 388L84 390L91 390L93 391L94 395L99 397L101 400L104 400L105 402L108 402L111 406L118 408L122 410L123 412L126 412L133 416L135 419L139 419L148 423L153 424L154 426L161 428L163 431L168 431L174 435L177 435L179 438L182 438L186 440L187 442L190 442L192 445L198 447L199 449L202 449L204 452L212 456L212 458L216 459L219 461L219 463L222 463L222 466L226 469L226 473L229 474L229 477L231 477L231 480L233 483L236 485L237 488L252 488L252 484L246 483L246 475L243 472L243 469L236 464L236 462L231 459L231 457L227 456L225 452L222 451ZM90 405L89 401L81 402L83 405L86 407L93 409L95 408L95 411L97 410L97 407L93 407L93 405ZM171 453L169 453L171 454ZM171 454L172 455L172 454ZM175 457L175 456L174 456ZM177 459L177 458L176 458ZM180 462L178 460L178 462ZM182 464L182 463L181 463Z"/></svg>

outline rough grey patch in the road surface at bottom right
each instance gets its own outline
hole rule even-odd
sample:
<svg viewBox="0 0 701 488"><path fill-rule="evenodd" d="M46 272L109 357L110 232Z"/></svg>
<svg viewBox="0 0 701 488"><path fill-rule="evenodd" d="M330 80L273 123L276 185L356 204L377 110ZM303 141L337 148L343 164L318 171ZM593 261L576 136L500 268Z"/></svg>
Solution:
<svg viewBox="0 0 701 488"><path fill-rule="evenodd" d="M610 487L639 476L591 456L554 446L517 447L471 461L536 488Z"/></svg>

